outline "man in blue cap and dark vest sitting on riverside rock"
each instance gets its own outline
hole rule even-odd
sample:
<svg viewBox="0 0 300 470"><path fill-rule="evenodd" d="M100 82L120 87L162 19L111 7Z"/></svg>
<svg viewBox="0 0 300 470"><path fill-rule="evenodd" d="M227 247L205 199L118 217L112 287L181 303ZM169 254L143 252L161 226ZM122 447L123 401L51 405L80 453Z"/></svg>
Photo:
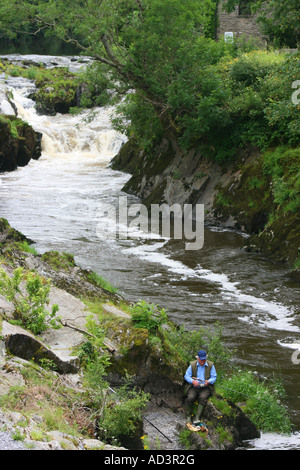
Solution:
<svg viewBox="0 0 300 470"><path fill-rule="evenodd" d="M201 415L208 398L213 393L213 384L216 378L217 373L214 363L207 360L205 351L200 350L197 360L190 364L184 376L184 379L188 382L184 397L187 424L202 425ZM192 409L196 401L198 401L197 412L195 419L192 420Z"/></svg>

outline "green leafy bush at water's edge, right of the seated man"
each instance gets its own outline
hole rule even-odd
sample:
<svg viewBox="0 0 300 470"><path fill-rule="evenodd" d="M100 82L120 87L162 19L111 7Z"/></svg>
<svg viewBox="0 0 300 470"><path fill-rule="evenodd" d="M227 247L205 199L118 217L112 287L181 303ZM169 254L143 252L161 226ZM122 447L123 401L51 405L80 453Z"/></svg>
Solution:
<svg viewBox="0 0 300 470"><path fill-rule="evenodd" d="M285 392L280 383L261 382L251 372L239 371L219 385L223 396L235 403L246 402L244 411L259 429L280 433L291 431L290 419L281 402Z"/></svg>

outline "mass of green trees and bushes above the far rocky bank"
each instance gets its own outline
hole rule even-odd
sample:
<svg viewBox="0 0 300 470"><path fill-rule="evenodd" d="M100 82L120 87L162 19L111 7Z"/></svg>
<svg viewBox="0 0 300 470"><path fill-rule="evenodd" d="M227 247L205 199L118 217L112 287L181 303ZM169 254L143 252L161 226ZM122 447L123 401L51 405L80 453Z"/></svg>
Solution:
<svg viewBox="0 0 300 470"><path fill-rule="evenodd" d="M295 2L281 2L288 19L279 0L267 2L277 12L272 20L293 34L299 17ZM291 86L299 75L299 55L251 52L253 44L214 41L209 31L215 7L215 0L3 0L0 31L13 37L20 28L31 32L35 24L93 57L83 105L122 98L115 126L149 154L164 133L219 162L247 144L263 150L294 145L299 106L292 103ZM27 73L35 74L32 68ZM37 99L50 108L60 99L74 108L76 80L65 72L49 81L48 73L56 72L35 77Z"/></svg>

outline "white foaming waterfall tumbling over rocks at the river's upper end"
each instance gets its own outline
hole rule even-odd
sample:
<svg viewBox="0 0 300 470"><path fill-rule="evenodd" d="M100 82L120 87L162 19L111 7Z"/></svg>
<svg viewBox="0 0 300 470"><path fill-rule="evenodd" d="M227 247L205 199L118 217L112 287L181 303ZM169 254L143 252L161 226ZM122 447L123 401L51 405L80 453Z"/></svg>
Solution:
<svg viewBox="0 0 300 470"><path fill-rule="evenodd" d="M18 57L21 60L21 57ZM35 56L33 56L35 57ZM15 60L17 57L13 57ZM42 57L43 62L49 66L61 62L75 71L76 61L68 58ZM81 64L82 66L82 64ZM3 113L15 114L28 122L35 131L43 134L42 151L48 157L59 158L72 156L72 158L98 157L103 163L108 163L116 155L125 142L121 135L111 125L113 107L94 108L82 110L79 114L56 114L55 116L39 115L35 109L35 102L29 98L34 91L33 80L23 77L2 77L0 85L0 109ZM0 93L1 93L0 91ZM12 95L12 104L5 98L7 92Z"/></svg>

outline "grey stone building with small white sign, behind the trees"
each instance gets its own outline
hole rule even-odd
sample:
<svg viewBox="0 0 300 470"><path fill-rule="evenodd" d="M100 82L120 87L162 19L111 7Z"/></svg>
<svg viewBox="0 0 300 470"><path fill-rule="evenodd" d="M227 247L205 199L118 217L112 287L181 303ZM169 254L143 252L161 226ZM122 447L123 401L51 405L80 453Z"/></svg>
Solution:
<svg viewBox="0 0 300 470"><path fill-rule="evenodd" d="M223 9L224 0L218 4L217 39L241 37L258 38L263 41L256 15L251 15L247 0L241 0L233 12L227 13Z"/></svg>

